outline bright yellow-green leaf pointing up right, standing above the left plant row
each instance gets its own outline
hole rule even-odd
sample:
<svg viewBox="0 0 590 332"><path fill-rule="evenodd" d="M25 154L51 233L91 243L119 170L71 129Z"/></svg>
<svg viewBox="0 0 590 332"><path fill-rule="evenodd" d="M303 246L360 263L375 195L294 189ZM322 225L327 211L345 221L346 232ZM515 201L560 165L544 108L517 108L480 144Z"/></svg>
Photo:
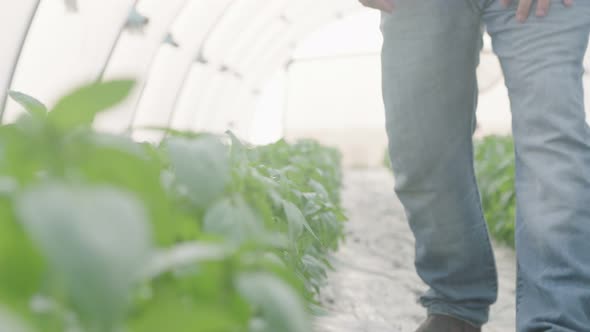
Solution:
<svg viewBox="0 0 590 332"><path fill-rule="evenodd" d="M118 80L84 86L60 99L49 112L49 121L64 131L90 126L96 114L122 102L134 84L132 80Z"/></svg>

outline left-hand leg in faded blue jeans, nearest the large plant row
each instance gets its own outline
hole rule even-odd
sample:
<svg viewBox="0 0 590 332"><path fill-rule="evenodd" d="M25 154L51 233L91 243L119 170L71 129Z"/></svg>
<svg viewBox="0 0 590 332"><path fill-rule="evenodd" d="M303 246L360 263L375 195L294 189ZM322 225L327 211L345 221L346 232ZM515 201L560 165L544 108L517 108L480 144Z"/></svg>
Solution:
<svg viewBox="0 0 590 332"><path fill-rule="evenodd" d="M481 21L471 1L397 1L383 14L382 70L395 189L430 286L421 303L479 326L497 276L473 170Z"/></svg>

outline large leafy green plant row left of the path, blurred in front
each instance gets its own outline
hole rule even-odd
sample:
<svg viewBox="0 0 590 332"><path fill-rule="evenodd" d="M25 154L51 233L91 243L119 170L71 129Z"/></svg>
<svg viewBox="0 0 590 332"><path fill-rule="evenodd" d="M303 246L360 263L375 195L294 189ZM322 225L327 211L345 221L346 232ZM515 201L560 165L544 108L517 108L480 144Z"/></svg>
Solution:
<svg viewBox="0 0 590 332"><path fill-rule="evenodd" d="M343 234L340 155L91 129L131 81L0 127L1 331L309 332Z"/></svg>

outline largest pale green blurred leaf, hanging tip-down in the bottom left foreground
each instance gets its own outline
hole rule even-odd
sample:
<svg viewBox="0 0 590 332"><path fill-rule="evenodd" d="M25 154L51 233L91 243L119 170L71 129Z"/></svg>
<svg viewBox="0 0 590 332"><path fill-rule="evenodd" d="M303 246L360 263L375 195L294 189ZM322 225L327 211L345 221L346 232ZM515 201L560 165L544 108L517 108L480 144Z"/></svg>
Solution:
<svg viewBox="0 0 590 332"><path fill-rule="evenodd" d="M110 187L45 183L25 191L16 212L81 317L110 331L151 253L143 206Z"/></svg>

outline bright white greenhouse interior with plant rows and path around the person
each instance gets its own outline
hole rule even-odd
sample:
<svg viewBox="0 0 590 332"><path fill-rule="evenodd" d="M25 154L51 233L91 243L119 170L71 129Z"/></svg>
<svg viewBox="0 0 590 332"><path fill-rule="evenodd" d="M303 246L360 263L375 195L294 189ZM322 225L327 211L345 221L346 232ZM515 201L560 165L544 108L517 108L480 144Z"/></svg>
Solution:
<svg viewBox="0 0 590 332"><path fill-rule="evenodd" d="M385 129L386 13L358 0L0 0L0 13L0 332L423 320ZM486 327L504 332L518 167L493 44L484 33L471 168L500 274Z"/></svg>

